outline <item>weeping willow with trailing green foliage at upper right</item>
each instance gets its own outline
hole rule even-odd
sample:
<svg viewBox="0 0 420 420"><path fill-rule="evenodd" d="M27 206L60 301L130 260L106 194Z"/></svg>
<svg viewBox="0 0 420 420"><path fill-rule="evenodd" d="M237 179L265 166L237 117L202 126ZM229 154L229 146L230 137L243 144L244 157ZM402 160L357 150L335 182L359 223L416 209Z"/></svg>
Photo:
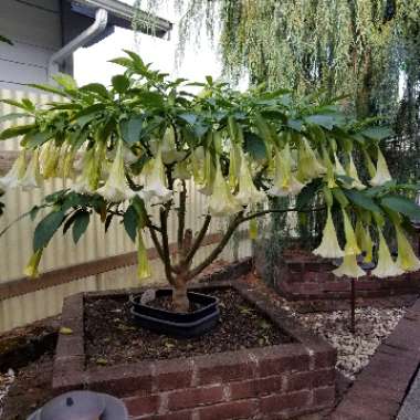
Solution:
<svg viewBox="0 0 420 420"><path fill-rule="evenodd" d="M149 1L157 11L165 0ZM137 8L141 4L136 2ZM420 178L419 0L179 0L179 53L219 34L224 76L285 87L297 97L343 96L357 118L379 115L393 127L385 146L393 176ZM149 9L150 10L150 9ZM357 161L356 161L357 162ZM302 242L324 223L304 216ZM302 220L301 220L302 221ZM284 232L284 220L273 220ZM284 229L280 229L283 224Z"/></svg>

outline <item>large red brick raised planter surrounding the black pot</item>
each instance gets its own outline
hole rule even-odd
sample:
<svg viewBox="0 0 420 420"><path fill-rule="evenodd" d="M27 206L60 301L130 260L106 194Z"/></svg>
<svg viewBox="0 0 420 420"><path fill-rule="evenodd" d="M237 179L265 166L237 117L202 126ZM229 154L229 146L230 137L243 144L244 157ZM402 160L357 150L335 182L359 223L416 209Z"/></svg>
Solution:
<svg viewBox="0 0 420 420"><path fill-rule="evenodd" d="M290 419L329 409L335 400L335 350L302 330L265 296L241 281L197 285L234 287L293 337L291 344L238 351L87 369L84 355L84 301L65 300L54 360L53 390L91 389L123 398L133 419ZM123 292L112 293L113 296Z"/></svg>

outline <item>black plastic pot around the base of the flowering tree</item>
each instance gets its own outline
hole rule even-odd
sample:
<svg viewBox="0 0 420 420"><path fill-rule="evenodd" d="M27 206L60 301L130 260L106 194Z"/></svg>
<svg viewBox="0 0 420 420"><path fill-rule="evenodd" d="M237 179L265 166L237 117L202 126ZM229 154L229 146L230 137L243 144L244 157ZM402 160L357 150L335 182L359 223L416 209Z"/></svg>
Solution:
<svg viewBox="0 0 420 420"><path fill-rule="evenodd" d="M169 288L158 290L156 298L170 296ZM130 296L132 314L137 325L172 337L198 337L212 329L220 316L218 298L201 293L188 292L188 298L199 308L188 313L159 309L140 303L140 295Z"/></svg>

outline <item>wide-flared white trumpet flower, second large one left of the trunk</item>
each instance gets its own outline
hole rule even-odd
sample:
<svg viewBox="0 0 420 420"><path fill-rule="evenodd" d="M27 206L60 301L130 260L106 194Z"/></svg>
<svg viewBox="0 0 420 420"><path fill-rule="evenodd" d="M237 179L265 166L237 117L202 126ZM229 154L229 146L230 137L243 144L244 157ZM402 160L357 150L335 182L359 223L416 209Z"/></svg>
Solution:
<svg viewBox="0 0 420 420"><path fill-rule="evenodd" d="M123 141L118 141L117 153L111 167L108 179L96 192L108 202L120 202L134 196L125 177Z"/></svg>

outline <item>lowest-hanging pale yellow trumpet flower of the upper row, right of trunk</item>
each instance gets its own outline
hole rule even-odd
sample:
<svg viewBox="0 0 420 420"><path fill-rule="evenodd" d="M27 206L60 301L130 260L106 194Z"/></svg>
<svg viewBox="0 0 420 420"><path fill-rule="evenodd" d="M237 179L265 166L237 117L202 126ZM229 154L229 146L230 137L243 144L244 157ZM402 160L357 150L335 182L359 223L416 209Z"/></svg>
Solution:
<svg viewBox="0 0 420 420"><path fill-rule="evenodd" d="M225 217L242 210L241 203L232 196L229 185L223 178L218 160L213 192L209 198L209 212L211 216Z"/></svg>

